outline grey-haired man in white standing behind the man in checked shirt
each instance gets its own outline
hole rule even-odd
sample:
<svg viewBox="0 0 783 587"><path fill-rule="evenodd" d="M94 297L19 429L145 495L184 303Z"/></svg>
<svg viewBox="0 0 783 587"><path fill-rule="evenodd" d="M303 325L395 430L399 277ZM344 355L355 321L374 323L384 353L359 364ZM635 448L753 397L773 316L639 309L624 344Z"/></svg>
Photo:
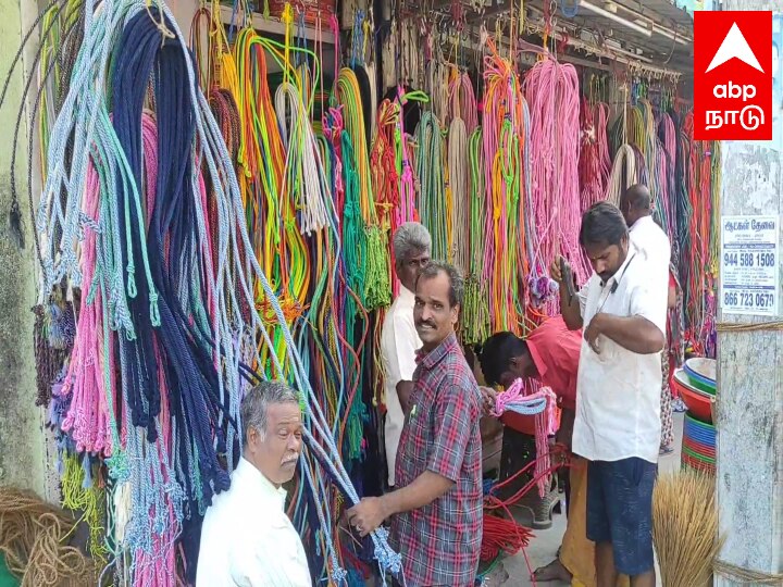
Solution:
<svg viewBox="0 0 783 587"><path fill-rule="evenodd" d="M406 222L395 232L393 242L395 270L401 287L386 312L381 332L381 355L386 371L384 437L389 487L395 486L397 447L405 424L402 408L410 391L408 382L413 378L415 353L422 346L413 323L413 290L419 272L430 262L432 237L424 225Z"/></svg>

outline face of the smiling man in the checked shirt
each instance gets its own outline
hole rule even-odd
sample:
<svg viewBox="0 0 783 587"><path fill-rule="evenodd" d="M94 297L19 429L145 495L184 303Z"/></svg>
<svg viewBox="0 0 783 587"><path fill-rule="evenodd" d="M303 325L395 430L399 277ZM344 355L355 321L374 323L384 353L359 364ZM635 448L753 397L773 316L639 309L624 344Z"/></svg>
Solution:
<svg viewBox="0 0 783 587"><path fill-rule="evenodd" d="M426 351L443 342L457 324L459 305L449 303L449 289L448 275L443 272L417 284L413 321Z"/></svg>

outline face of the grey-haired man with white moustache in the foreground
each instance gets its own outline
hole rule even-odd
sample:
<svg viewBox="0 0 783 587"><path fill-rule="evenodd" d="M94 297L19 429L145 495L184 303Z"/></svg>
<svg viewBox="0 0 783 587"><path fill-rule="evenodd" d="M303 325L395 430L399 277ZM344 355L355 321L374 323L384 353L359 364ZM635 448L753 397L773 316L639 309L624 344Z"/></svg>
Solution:
<svg viewBox="0 0 783 587"><path fill-rule="evenodd" d="M283 485L296 473L301 435L299 404L272 403L266 408L266 433L248 430L248 460L274 485Z"/></svg>

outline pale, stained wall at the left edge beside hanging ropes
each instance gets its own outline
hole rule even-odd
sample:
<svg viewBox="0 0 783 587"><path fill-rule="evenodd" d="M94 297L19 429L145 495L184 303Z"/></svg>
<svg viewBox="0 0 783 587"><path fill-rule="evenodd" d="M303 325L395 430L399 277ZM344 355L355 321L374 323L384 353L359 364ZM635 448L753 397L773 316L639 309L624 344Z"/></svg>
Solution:
<svg viewBox="0 0 783 587"><path fill-rule="evenodd" d="M23 29L35 18L35 3L0 0L0 72L3 77L20 46ZM32 45L32 43L30 43ZM28 53L29 54L29 53ZM0 109L0 485L33 489L49 499L46 483L46 435L42 410L36 408L35 359L30 309L35 299L35 252L27 204L27 113L20 133L16 161L20 207L25 218L26 247L11 238L8 214L11 205L10 165L12 136L24 89L23 70L15 71L5 103Z"/></svg>

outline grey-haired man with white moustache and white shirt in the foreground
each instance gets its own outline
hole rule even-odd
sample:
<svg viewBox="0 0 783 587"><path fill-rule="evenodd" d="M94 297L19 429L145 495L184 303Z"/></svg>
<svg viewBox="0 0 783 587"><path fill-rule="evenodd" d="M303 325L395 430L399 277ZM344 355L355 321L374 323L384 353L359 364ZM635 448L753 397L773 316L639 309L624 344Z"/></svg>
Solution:
<svg viewBox="0 0 783 587"><path fill-rule="evenodd" d="M296 392L263 382L240 407L243 457L201 528L196 587L311 587L301 539L281 486L296 472L301 414Z"/></svg>

